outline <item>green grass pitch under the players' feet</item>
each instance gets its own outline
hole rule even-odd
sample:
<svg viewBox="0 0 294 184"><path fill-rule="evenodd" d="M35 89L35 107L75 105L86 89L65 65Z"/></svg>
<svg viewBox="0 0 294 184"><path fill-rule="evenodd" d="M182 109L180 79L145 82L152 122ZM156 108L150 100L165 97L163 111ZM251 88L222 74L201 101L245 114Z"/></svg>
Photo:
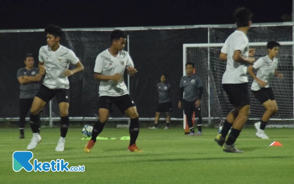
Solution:
<svg viewBox="0 0 294 184"><path fill-rule="evenodd" d="M141 129L137 145L143 153L127 151L127 129L106 128L100 140L85 154L81 128L69 129L65 151L55 152L59 129L42 129L42 142L33 159L64 159L69 166L85 165L84 172L14 172L12 154L26 151L31 131L16 139L18 129L0 130L0 184L294 184L294 130L267 129L270 139L255 137L244 129L236 147L243 154L224 153L213 140L217 129L203 129L201 137L184 135L182 129ZM282 147L270 147L279 141ZM33 160L32 159L32 160ZM31 160L31 163L32 163Z"/></svg>

